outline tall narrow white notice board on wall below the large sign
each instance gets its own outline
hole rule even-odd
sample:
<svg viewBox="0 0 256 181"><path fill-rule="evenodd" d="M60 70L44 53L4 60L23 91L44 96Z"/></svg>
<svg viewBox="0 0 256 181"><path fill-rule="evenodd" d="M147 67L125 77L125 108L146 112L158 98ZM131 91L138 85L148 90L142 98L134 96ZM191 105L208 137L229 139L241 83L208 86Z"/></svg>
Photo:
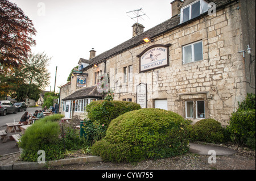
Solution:
<svg viewBox="0 0 256 181"><path fill-rule="evenodd" d="M140 83L137 86L137 103L141 105L141 108L147 108L147 84Z"/></svg>

